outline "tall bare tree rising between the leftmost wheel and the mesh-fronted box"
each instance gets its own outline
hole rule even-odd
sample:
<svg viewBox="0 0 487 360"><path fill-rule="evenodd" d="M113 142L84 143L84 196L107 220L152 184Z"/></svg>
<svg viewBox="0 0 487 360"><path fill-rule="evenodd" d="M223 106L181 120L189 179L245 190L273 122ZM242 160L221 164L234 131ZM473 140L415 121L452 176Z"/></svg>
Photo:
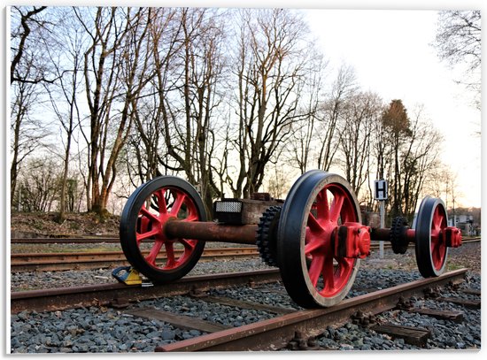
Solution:
<svg viewBox="0 0 487 360"><path fill-rule="evenodd" d="M214 151L213 113L219 106L220 75L223 57L223 15L217 10L184 9L182 11L182 74L184 127L176 126L175 138L183 145L180 154L172 155L192 183L200 188L208 213L219 188L213 182L212 157ZM183 154L183 156L182 156Z"/></svg>

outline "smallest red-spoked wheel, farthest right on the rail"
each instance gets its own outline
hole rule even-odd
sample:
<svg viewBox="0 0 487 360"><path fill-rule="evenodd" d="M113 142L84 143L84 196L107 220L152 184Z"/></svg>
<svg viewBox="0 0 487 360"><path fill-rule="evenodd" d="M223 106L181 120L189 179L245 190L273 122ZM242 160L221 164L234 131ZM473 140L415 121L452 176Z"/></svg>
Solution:
<svg viewBox="0 0 487 360"><path fill-rule="evenodd" d="M443 201L426 196L421 202L414 229L416 264L424 278L444 272L448 257L444 236L447 226L448 216Z"/></svg>

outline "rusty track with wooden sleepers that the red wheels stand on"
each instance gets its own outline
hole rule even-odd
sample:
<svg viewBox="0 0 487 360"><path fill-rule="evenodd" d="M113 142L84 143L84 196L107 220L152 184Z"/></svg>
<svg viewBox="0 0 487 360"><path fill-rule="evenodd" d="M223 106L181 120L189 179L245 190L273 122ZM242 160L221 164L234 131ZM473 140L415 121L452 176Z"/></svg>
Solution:
<svg viewBox="0 0 487 360"><path fill-rule="evenodd" d="M155 351L318 349L319 347L313 345L313 337L319 336L327 326L340 326L349 323L352 318L359 318L359 314L362 314L362 318L364 318L363 314L367 315L365 318L377 316L384 311L397 308L398 303L411 296L423 297L425 294L430 294L431 289L459 284L466 276L466 272L467 269L460 269L444 273L437 278L415 280L395 287L372 291L365 295L345 299L331 308L320 310L298 310L279 303L268 305L230 300L224 295L215 296L214 291L211 293L213 295L210 294L210 289L236 286L250 286L257 289L263 287L263 284L278 283L280 280L279 272L267 270L189 277L164 286L127 286L114 283L17 292L12 293L11 296L11 312L18 313L26 310L40 312L89 306L112 306L117 308L120 313L130 317L157 319L174 327L194 329L204 333L191 339L160 344L155 348ZM174 295L192 296L198 302L217 303L217 307L233 306L264 310L274 313L274 316L252 324L228 328L194 316L189 317L184 314L174 316L174 314L161 309L132 306L133 303L140 303L144 300ZM454 299L438 301L454 301ZM478 306L480 306L480 302L478 302ZM418 309L410 310L418 311ZM442 316L440 312L437 311L436 316ZM443 316L450 316L452 319L452 311L449 314L443 314ZM460 314L456 314L456 316L458 318ZM384 327L384 324L382 325ZM396 328L389 326L389 331L398 332L398 327L404 332L404 326L396 326ZM379 332L379 328L377 331ZM421 329L416 329L415 333L409 329L409 334L416 340L423 336ZM393 333L390 336L399 335Z"/></svg>

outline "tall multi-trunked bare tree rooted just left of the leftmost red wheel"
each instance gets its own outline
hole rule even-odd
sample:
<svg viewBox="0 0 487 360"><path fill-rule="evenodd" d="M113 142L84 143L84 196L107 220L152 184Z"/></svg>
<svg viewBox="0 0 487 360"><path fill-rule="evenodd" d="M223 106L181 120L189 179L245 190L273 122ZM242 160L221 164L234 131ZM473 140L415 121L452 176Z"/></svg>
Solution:
<svg viewBox="0 0 487 360"><path fill-rule="evenodd" d="M91 39L83 63L89 104L87 204L89 211L102 216L117 175L117 159L132 126L132 110L146 81L147 64L141 61L148 30L146 11L75 9Z"/></svg>

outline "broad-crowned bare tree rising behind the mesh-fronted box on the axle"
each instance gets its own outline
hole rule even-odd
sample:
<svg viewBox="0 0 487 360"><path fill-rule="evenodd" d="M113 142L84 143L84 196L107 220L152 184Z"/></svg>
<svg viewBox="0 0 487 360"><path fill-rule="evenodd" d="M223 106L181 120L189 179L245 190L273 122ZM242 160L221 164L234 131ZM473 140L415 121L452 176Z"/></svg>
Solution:
<svg viewBox="0 0 487 360"><path fill-rule="evenodd" d="M297 127L297 90L310 49L303 47L307 28L296 12L242 10L239 16L234 146L240 169L232 191L248 196L262 185L267 162Z"/></svg>

